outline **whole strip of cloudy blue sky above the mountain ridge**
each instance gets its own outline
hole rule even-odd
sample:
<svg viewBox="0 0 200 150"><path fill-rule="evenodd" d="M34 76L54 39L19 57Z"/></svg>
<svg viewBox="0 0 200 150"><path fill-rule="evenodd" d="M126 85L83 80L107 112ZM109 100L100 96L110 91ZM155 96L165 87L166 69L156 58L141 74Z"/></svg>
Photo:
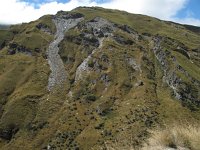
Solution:
<svg viewBox="0 0 200 150"><path fill-rule="evenodd" d="M200 26L200 0L0 0L0 24L30 22L78 6L119 9Z"/></svg>

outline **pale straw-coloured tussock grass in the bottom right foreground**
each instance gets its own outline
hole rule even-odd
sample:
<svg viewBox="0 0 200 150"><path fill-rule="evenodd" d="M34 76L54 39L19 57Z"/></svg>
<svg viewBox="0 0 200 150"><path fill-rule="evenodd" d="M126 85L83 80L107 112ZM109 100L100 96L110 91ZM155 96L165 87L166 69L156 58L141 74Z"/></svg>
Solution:
<svg viewBox="0 0 200 150"><path fill-rule="evenodd" d="M164 129L151 131L152 137L142 150L199 150L200 149L200 126L174 124Z"/></svg>

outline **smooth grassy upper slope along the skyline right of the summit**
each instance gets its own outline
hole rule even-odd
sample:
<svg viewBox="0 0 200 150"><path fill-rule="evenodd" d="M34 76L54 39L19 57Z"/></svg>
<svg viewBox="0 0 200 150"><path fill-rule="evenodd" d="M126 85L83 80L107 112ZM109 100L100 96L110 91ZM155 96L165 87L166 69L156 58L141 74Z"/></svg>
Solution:
<svg viewBox="0 0 200 150"><path fill-rule="evenodd" d="M141 34L159 34L171 37L191 48L200 46L198 41L199 34L197 34L199 32L196 32L199 31L199 27L180 25L173 22L165 22L145 15L135 15L124 11L109 10L98 7L79 7L73 11L83 13L87 20L96 16L102 16L114 23L120 22L120 24L128 25Z"/></svg>

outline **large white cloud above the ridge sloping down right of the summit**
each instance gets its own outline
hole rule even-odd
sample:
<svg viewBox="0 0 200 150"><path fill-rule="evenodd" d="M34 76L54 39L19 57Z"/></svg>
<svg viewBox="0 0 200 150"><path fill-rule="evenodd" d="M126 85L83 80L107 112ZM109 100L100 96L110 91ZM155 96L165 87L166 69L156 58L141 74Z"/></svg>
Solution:
<svg viewBox="0 0 200 150"><path fill-rule="evenodd" d="M113 0L102 6L169 19L182 9L186 2L187 0Z"/></svg>

